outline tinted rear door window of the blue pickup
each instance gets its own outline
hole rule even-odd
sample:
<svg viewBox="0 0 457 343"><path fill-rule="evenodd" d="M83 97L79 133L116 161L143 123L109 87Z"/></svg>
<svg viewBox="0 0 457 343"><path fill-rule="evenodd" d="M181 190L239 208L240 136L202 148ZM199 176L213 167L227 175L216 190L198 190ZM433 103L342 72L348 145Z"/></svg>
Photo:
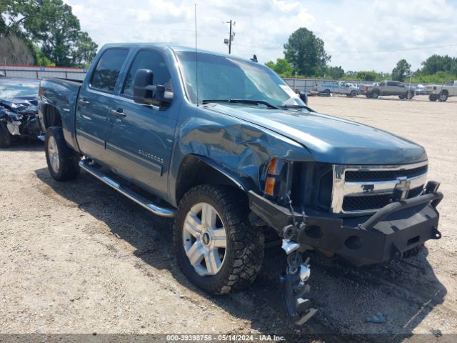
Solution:
<svg viewBox="0 0 457 343"><path fill-rule="evenodd" d="M91 88L112 93L127 54L129 49L106 50L92 74Z"/></svg>

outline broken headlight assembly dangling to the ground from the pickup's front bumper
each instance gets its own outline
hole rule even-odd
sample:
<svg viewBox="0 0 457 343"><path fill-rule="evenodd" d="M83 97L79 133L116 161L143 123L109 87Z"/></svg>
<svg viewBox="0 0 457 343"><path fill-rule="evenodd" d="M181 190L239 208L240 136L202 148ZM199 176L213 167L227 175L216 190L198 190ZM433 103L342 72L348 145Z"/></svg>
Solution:
<svg viewBox="0 0 457 343"><path fill-rule="evenodd" d="M304 229L304 225L300 226L300 229ZM288 225L283 229L282 248L287 254L288 267L279 279L288 316L294 324L303 325L316 314L317 309L313 309L311 300L305 297L310 289L306 284L311 274L309 258L303 263L301 254L298 252L300 244L291 240L292 237L296 237L298 230L295 225Z"/></svg>

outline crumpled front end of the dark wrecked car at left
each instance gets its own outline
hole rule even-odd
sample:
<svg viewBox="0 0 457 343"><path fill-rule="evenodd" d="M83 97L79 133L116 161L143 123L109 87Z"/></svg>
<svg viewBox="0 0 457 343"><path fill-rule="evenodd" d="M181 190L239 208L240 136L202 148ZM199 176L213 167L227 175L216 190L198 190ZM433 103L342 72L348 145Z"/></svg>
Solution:
<svg viewBox="0 0 457 343"><path fill-rule="evenodd" d="M11 136L37 138L41 134L38 123L38 100L0 100L0 123Z"/></svg>

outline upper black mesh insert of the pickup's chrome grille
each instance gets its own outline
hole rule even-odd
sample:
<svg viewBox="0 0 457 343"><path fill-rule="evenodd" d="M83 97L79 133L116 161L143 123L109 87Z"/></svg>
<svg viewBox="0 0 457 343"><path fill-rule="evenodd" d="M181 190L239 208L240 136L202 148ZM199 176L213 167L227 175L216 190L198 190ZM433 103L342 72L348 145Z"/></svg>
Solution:
<svg viewBox="0 0 457 343"><path fill-rule="evenodd" d="M346 182L376 182L396 180L398 177L418 177L426 174L428 166L419 166L414 169L403 170L359 170L346 171Z"/></svg>

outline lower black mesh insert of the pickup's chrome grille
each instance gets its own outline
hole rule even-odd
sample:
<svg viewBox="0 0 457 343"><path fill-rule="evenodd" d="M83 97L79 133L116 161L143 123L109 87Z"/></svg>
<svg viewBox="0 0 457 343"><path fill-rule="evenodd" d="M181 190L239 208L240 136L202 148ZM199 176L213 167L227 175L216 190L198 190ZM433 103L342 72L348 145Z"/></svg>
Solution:
<svg viewBox="0 0 457 343"><path fill-rule="evenodd" d="M416 187L409 191L408 199L417 197L422 192L422 187ZM381 209L392 202L392 194L367 194L355 197L344 197L343 211L367 211Z"/></svg>

